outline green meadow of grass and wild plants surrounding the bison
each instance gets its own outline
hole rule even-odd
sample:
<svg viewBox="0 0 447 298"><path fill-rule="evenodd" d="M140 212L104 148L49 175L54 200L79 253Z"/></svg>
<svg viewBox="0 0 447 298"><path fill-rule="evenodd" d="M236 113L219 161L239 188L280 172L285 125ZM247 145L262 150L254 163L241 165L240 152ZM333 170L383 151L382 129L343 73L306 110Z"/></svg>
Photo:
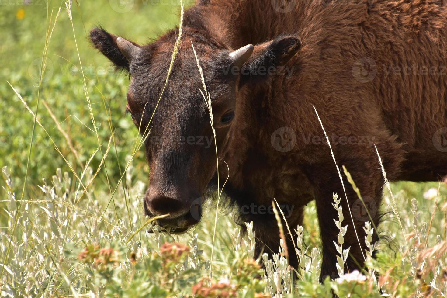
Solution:
<svg viewBox="0 0 447 298"><path fill-rule="evenodd" d="M135 1L130 12L119 13L112 0L73 2L72 21L63 5L49 40L61 2L32 3L8 2L0 10L2 294L331 297L333 291L340 297L376 297L381 289L395 297L447 295L445 185L439 198L424 198L438 183L391 185L401 225L390 214L380 227L390 242L375 248L380 252L368 261L365 281L318 282L321 243L313 203L304 230L290 227L302 238L300 278L293 285L283 256L266 261L266 272L260 270L262 260L253 261L256 233L241 236L226 210L218 212L215 227L215 200L189 234L148 235L141 206L148 167L143 151L134 150L138 131L124 113L128 78L114 72L87 37L101 24L146 42L178 25L180 6ZM47 66L39 84L42 53ZM34 117L7 81L32 111L39 101L37 118L45 130L36 123L33 138ZM393 210L384 189L382 209Z"/></svg>

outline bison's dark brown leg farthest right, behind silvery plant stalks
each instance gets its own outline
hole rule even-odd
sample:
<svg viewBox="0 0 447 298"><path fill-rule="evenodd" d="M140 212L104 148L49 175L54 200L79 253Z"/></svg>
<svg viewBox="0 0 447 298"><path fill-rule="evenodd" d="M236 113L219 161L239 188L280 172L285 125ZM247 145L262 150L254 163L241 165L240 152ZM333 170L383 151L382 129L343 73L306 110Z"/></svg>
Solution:
<svg viewBox="0 0 447 298"><path fill-rule="evenodd" d="M345 186L346 196L337 172L335 175L323 175L318 179L320 184L318 185L316 193L316 209L320 225L321 240L323 243L323 262L321 264L320 273L321 280L324 280L327 276L331 279L338 277L336 264L337 255L339 255L339 253L336 250L334 242L337 243L339 230L334 222L334 219L338 220L338 215L337 211L332 206L333 193L338 193L338 197L341 198L340 204L342 205L344 215L342 227L346 225L348 226L346 235L344 236L345 242L343 243L343 249L350 247L349 256L345 263L345 273L352 272L353 270L361 271L363 268L365 260L364 256L366 256L365 231L363 230L363 227L367 221L372 221L375 226L377 226L379 219L378 207L382 200L382 180L380 172L377 170L371 172L365 171L365 169L370 166L370 163L360 161L351 164L351 166L346 164L354 182L360 189L364 204L353 191L352 186L346 180L346 176L343 173L343 184ZM332 167L334 167L334 165L332 165ZM329 168L329 166L325 168ZM370 168L374 169L374 167ZM375 166L375 168L377 167ZM326 183L323 183L323 181ZM377 231L375 231L373 235L373 243L375 243L378 238L376 233Z"/></svg>

